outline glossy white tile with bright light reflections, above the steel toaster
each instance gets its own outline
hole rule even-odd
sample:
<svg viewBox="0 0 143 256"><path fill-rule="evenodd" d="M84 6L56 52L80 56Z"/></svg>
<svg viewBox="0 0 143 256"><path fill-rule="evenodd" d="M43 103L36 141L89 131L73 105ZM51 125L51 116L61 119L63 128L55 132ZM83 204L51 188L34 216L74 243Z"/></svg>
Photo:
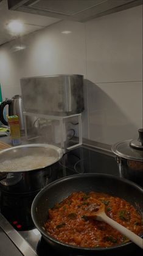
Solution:
<svg viewBox="0 0 143 256"><path fill-rule="evenodd" d="M63 34L63 31L70 31ZM23 45L24 50L15 51ZM0 48L1 84L19 86L21 77L86 72L85 26L61 21Z"/></svg>

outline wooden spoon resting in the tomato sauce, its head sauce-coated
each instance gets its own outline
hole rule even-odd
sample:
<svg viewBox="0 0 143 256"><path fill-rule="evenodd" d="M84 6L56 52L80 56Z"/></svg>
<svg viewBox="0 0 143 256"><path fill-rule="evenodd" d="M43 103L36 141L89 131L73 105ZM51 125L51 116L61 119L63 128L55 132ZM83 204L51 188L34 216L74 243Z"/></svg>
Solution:
<svg viewBox="0 0 143 256"><path fill-rule="evenodd" d="M116 228L116 230L118 230L120 233L127 236L127 238L133 241L134 244L137 244L143 249L143 239L128 230L128 228L125 228L124 226L117 223L115 220L108 217L105 213L105 205L103 203L97 200L97 203L89 205L87 210L88 214L86 216L88 217L88 219L96 219L106 222L111 227Z"/></svg>

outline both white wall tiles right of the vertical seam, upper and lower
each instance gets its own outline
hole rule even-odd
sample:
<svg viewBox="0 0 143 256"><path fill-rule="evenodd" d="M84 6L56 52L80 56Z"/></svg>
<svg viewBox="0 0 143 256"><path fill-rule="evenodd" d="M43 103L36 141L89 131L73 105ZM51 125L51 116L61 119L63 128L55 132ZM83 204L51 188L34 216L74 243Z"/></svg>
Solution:
<svg viewBox="0 0 143 256"><path fill-rule="evenodd" d="M86 23L88 137L113 144L142 127L142 6ZM87 136L87 135L86 135Z"/></svg>

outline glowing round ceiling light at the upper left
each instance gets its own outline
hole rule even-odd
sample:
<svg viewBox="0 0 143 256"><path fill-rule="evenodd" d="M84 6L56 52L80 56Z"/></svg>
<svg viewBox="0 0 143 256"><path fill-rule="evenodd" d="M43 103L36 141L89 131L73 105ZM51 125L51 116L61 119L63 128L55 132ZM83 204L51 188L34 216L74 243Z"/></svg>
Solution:
<svg viewBox="0 0 143 256"><path fill-rule="evenodd" d="M24 24L19 20L13 20L10 21L10 23L7 25L7 28L13 34L21 34L21 32L24 31Z"/></svg>

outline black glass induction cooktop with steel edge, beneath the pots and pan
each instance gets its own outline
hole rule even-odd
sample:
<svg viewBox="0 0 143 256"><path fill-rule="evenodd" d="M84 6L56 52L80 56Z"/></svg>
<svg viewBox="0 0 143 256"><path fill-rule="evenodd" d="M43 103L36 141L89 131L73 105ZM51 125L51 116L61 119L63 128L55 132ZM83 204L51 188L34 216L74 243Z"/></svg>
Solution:
<svg viewBox="0 0 143 256"><path fill-rule="evenodd" d="M108 173L119 176L113 153L88 146L79 146L66 152L59 161L57 173L56 175L54 173L51 181L79 173ZM47 244L41 237L40 232L33 225L30 209L33 198L35 198L38 192L31 191L29 194L9 194L1 190L0 256L65 255L64 252L57 252L54 247ZM9 243L8 240L10 240ZM4 246L10 244L11 246L6 246L6 250L2 244ZM141 252L142 250L135 246L126 255L138 254L140 256ZM119 251L116 255L121 255L121 253ZM78 254L66 253L66 256L69 255L77 256ZM98 255L96 254L96 256Z"/></svg>

